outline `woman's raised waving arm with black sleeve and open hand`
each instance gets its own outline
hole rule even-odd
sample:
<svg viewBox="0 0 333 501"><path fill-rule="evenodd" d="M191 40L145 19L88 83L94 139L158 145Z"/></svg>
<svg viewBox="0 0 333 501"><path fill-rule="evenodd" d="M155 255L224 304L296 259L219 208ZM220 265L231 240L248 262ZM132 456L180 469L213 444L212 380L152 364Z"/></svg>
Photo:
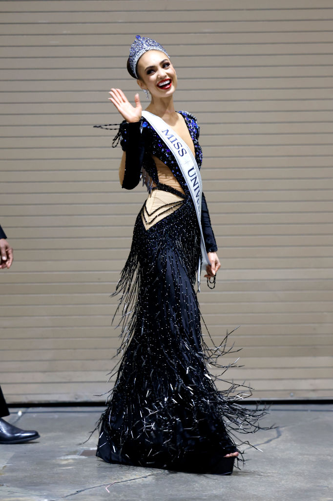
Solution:
<svg viewBox="0 0 333 501"><path fill-rule="evenodd" d="M123 150L119 167L119 181L122 188L133 189L140 180L141 165L144 153L141 125L141 104L135 94L135 108L128 102L120 89L111 89L109 101L113 103L120 115L125 119L120 125L121 148Z"/></svg>

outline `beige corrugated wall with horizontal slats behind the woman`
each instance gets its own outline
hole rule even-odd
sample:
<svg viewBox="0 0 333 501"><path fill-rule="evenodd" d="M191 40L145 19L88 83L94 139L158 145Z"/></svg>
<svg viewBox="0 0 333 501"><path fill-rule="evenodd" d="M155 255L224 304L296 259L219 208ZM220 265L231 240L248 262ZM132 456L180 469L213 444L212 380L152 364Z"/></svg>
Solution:
<svg viewBox="0 0 333 501"><path fill-rule="evenodd" d="M0 2L0 383L8 402L103 400L118 345L109 295L142 188L92 129L130 99L134 35L172 55L177 109L201 126L222 270L200 303L215 340L243 347L256 398L332 396L331 0ZM144 102L144 96L141 97ZM228 361L233 360L232 357Z"/></svg>

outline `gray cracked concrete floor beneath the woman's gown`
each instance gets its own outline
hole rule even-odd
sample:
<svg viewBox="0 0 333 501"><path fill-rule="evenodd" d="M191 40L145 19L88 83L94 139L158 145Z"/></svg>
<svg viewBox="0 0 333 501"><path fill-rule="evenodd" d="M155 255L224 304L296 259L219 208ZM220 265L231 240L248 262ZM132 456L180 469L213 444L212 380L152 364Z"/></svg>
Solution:
<svg viewBox="0 0 333 501"><path fill-rule="evenodd" d="M101 407L13 409L8 421L37 429L34 442L0 445L1 501L333 501L333 405L273 405L250 436L262 452L231 476L199 475L107 464L86 443Z"/></svg>

